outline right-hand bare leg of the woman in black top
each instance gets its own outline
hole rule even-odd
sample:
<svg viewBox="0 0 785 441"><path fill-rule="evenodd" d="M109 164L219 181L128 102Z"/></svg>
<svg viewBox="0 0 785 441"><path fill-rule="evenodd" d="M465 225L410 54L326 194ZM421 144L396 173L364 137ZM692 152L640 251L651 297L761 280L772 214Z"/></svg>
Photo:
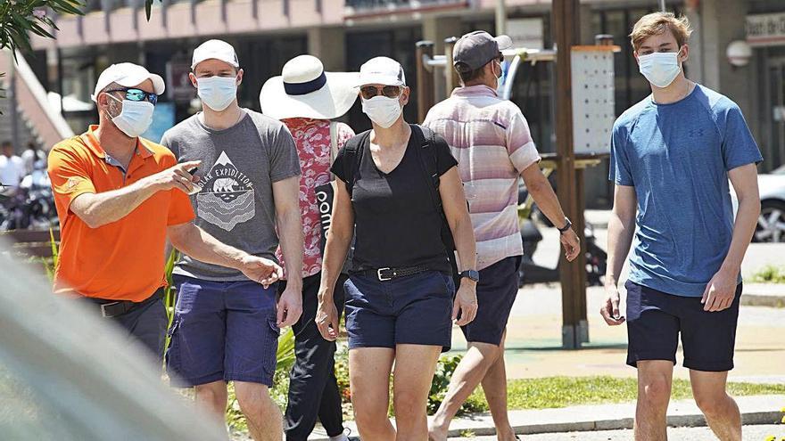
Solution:
<svg viewBox="0 0 785 441"><path fill-rule="evenodd" d="M434 381L436 361L442 347L398 345L392 399L395 405L396 441L427 441L428 392Z"/></svg>

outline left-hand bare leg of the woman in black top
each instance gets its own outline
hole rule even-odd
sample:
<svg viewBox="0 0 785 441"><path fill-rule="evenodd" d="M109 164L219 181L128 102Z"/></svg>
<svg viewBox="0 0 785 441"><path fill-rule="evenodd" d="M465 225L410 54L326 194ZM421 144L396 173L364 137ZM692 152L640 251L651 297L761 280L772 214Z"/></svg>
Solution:
<svg viewBox="0 0 785 441"><path fill-rule="evenodd" d="M388 347L358 347L349 351L351 404L362 439L395 439L395 429L387 418L394 357L395 351Z"/></svg>

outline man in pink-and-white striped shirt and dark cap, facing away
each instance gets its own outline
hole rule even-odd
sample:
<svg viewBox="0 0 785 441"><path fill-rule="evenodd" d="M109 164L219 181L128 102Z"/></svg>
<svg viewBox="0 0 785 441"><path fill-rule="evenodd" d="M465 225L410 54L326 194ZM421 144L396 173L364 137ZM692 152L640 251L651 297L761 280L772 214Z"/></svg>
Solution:
<svg viewBox="0 0 785 441"><path fill-rule="evenodd" d="M578 236L566 218L548 179L539 167L529 126L518 107L496 94L502 49L507 36L475 31L461 37L453 50L462 87L428 112L425 126L442 135L459 161L477 241L477 316L462 328L467 355L452 375L450 389L431 422L431 439L447 439L450 420L483 384L498 439L514 440L507 414L504 337L517 294L517 269L523 246L518 227L518 176L542 213L557 225L566 258L580 252Z"/></svg>

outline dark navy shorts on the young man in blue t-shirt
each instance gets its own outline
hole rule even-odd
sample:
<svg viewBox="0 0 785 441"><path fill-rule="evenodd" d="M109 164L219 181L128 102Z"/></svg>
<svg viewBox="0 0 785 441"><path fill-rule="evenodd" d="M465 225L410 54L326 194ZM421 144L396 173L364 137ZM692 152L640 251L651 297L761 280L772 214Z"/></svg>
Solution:
<svg viewBox="0 0 785 441"><path fill-rule="evenodd" d="M704 311L699 297L665 294L629 281L624 287L627 364L636 367L642 360L668 360L675 364L681 333L685 368L706 372L733 369L741 283L731 306L718 312Z"/></svg>

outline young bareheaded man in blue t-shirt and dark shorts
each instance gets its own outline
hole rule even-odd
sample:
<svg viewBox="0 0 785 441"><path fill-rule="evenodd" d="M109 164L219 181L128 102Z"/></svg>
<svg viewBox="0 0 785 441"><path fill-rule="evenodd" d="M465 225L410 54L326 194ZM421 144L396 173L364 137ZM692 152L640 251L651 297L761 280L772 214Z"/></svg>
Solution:
<svg viewBox="0 0 785 441"><path fill-rule="evenodd" d="M616 192L600 313L609 325L625 321L617 281L634 237L625 287L627 363L638 368L635 439L667 438L681 333L684 366L709 427L723 441L740 440L739 407L725 381L733 368L741 260L760 213L756 163L763 158L739 107L684 77L687 19L652 13L630 37L652 94L614 125ZM739 200L735 223L729 178Z"/></svg>

